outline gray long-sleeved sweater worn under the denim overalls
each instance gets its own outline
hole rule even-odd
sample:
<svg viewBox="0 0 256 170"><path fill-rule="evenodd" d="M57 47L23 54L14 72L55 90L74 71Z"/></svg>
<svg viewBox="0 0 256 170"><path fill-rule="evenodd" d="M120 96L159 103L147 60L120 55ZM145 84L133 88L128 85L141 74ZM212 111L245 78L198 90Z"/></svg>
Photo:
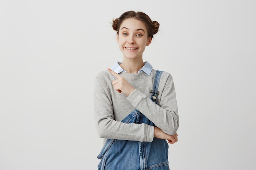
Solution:
<svg viewBox="0 0 256 170"><path fill-rule="evenodd" d="M133 141L153 141L154 127L147 124L122 123L128 114L137 108L155 126L173 135L179 126L179 116L173 78L164 72L159 83L158 104L150 100L156 70L150 75L145 72L125 73L123 76L134 88L128 97L118 93L111 80L116 78L107 70L101 71L94 82L94 118L99 137Z"/></svg>

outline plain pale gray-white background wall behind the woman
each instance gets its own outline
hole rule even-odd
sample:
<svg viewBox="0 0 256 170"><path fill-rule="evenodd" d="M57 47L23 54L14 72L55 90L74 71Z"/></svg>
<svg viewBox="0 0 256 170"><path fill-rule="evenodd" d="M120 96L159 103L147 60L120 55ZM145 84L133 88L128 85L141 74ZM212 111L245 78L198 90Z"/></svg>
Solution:
<svg viewBox="0 0 256 170"><path fill-rule="evenodd" d="M256 1L1 0L0 170L96 170L93 83L122 61L113 18L160 23L144 61L172 74L174 170L256 169Z"/></svg>

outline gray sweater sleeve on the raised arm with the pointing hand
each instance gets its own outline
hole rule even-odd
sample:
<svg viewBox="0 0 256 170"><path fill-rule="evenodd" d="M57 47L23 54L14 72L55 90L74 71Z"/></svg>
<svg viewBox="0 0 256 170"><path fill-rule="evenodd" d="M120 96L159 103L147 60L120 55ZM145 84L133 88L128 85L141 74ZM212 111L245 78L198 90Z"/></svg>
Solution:
<svg viewBox="0 0 256 170"><path fill-rule="evenodd" d="M168 135L173 135L179 127L179 116L173 78L164 72L159 85L159 106L139 90L133 91L127 100L144 114L155 126L162 129ZM164 82L163 82L164 81Z"/></svg>

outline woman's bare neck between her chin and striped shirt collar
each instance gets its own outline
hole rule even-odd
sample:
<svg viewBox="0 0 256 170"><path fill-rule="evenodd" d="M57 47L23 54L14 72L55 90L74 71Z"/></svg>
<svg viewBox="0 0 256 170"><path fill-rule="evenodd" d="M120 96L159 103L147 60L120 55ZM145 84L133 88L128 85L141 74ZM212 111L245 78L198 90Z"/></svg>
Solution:
<svg viewBox="0 0 256 170"><path fill-rule="evenodd" d="M141 59L138 60L129 60L124 59L120 66L127 72L127 73L138 73L138 71L144 66L144 62Z"/></svg>

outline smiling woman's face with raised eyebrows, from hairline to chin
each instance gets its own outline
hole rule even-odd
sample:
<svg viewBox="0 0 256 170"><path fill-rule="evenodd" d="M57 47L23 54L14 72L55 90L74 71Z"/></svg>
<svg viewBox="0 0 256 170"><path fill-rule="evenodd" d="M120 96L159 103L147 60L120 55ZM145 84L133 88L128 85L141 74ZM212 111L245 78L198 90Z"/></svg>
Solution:
<svg viewBox="0 0 256 170"><path fill-rule="evenodd" d="M128 18L120 26L117 42L124 57L129 59L142 58L142 54L151 43L148 31L143 22L134 18Z"/></svg>

